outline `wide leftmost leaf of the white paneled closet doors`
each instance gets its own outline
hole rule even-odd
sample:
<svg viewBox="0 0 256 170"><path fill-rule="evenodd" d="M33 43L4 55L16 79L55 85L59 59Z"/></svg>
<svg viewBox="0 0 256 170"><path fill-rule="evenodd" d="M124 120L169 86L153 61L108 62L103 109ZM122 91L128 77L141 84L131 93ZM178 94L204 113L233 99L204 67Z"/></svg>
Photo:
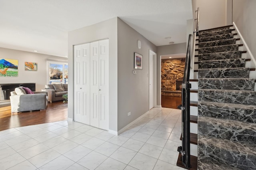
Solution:
<svg viewBox="0 0 256 170"><path fill-rule="evenodd" d="M90 43L74 46L74 121L90 125Z"/></svg>

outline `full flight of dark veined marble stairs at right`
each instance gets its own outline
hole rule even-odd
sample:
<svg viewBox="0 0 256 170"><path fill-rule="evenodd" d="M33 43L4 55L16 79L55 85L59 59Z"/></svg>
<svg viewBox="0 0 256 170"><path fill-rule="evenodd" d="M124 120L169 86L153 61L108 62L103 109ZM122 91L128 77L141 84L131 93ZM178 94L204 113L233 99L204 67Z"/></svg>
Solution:
<svg viewBox="0 0 256 170"><path fill-rule="evenodd" d="M198 170L256 169L255 69L230 27L199 32Z"/></svg>

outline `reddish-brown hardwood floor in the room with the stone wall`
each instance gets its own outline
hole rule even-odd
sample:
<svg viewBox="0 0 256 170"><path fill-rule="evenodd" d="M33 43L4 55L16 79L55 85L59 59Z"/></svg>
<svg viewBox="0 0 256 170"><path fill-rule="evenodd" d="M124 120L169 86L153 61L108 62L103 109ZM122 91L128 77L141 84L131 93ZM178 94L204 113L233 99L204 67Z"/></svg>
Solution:
<svg viewBox="0 0 256 170"><path fill-rule="evenodd" d="M178 109L178 106L181 105L181 97L162 95L161 105L162 107Z"/></svg>

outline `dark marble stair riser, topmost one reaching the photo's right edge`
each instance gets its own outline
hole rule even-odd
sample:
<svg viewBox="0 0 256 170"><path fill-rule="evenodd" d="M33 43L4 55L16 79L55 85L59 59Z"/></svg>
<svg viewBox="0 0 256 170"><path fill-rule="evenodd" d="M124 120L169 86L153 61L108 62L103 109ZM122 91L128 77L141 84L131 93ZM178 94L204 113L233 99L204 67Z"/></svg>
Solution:
<svg viewBox="0 0 256 170"><path fill-rule="evenodd" d="M256 105L256 91L198 89L198 101Z"/></svg>

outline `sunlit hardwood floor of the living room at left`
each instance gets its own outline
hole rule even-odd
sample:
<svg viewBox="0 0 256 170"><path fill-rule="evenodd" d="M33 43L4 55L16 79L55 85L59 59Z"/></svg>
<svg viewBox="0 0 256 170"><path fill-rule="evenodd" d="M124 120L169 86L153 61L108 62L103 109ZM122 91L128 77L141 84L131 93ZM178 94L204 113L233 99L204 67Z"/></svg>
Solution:
<svg viewBox="0 0 256 170"><path fill-rule="evenodd" d="M11 107L0 107L0 131L9 128L23 127L64 121L68 118L68 103L62 101L48 103L45 111L27 111L16 115L11 114Z"/></svg>

